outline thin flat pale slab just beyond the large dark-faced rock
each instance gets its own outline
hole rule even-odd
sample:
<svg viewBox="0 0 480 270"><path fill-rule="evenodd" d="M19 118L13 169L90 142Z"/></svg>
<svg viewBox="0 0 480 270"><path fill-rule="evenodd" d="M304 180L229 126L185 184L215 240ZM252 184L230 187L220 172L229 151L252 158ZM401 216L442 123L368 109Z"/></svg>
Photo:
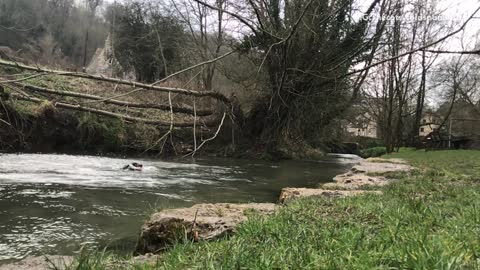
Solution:
<svg viewBox="0 0 480 270"><path fill-rule="evenodd" d="M381 194L380 191L365 191L365 190L328 190L318 188L284 188L280 194L280 202L285 203L292 199L302 197L348 197L363 193Z"/></svg>

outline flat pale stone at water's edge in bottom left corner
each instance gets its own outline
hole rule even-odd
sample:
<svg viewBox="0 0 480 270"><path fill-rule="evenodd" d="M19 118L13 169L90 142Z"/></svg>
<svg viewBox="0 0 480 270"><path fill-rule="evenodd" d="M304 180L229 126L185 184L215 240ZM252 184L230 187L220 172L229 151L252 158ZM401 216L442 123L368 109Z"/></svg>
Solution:
<svg viewBox="0 0 480 270"><path fill-rule="evenodd" d="M73 262L70 256L42 256L29 257L16 263L0 265L0 270L50 270L50 269L67 269Z"/></svg>

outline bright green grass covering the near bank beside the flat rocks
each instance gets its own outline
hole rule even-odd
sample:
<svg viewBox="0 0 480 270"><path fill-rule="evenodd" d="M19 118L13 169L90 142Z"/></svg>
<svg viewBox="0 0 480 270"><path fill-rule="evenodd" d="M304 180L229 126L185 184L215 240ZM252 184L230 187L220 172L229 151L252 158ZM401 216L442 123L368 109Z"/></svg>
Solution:
<svg viewBox="0 0 480 270"><path fill-rule="evenodd" d="M480 151L403 150L420 170L383 195L301 199L230 239L178 243L156 265L79 256L72 269L480 269ZM119 267L121 266L121 267Z"/></svg>

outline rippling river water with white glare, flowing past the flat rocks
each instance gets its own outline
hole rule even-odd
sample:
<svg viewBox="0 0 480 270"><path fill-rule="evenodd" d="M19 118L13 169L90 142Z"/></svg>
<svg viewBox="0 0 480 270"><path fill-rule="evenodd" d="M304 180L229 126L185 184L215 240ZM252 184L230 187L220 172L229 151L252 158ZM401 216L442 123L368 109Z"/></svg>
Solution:
<svg viewBox="0 0 480 270"><path fill-rule="evenodd" d="M142 172L121 169L134 161L144 164ZM357 161L349 155L272 163L0 154L0 264L71 255L84 245L133 248L155 209L275 202L283 187L315 187Z"/></svg>

